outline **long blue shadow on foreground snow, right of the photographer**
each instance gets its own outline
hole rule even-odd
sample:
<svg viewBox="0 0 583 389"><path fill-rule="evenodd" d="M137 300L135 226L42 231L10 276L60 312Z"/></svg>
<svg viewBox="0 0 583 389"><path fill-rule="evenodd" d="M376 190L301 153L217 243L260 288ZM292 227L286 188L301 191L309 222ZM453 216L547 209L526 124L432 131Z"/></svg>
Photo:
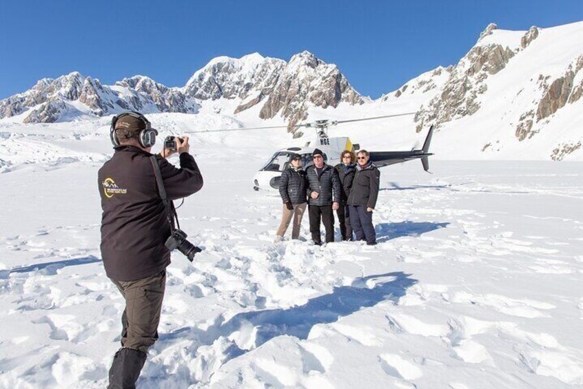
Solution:
<svg viewBox="0 0 583 389"><path fill-rule="evenodd" d="M409 276L410 274L400 271L370 275L356 279L351 286L338 286L332 293L309 299L301 306L239 313L221 324L214 338L228 336L250 324L257 330L252 348L279 335L307 339L311 328L316 324L336 322L340 317L351 315L362 308L375 306L383 301L396 304L400 297L405 295L407 288L417 283L417 280ZM367 285L375 281L372 288ZM241 353L247 351L241 350Z"/></svg>

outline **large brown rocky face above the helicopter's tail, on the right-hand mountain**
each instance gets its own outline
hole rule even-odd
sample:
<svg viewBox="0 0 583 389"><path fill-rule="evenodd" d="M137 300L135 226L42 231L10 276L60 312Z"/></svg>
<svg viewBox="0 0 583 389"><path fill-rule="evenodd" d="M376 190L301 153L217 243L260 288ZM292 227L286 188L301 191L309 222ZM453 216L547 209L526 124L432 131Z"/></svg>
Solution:
<svg viewBox="0 0 583 389"><path fill-rule="evenodd" d="M504 69L513 56L510 48L495 43L474 46L453 67L442 93L416 114L417 132L426 127L426 123L439 125L477 112L480 109L478 95L487 90L484 81L489 75Z"/></svg>

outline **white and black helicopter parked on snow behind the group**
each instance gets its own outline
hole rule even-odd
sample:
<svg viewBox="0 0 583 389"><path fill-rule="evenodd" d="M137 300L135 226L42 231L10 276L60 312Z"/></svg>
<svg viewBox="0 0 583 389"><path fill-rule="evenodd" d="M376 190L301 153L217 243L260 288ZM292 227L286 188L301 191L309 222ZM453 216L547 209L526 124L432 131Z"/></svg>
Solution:
<svg viewBox="0 0 583 389"><path fill-rule="evenodd" d="M265 165L263 165L263 167L261 167L261 169L255 174L253 178L253 189L255 191L259 191L260 189L278 189L281 174L289 166L289 162L294 154L299 154L302 157L302 166L305 168L312 165L313 161L311 155L317 147L323 152L324 162L327 163L327 165L334 166L340 162L340 154L342 151L349 150L356 152L360 149L360 145L358 143L352 143L348 137L329 137L327 134L329 126L402 115L408 114L376 116L374 118L353 120L316 120L314 123L297 125L296 127L315 128L316 139L310 140L304 145L304 147L287 147L276 151L275 154L267 160ZM421 149L412 149L411 151L369 151L370 159L374 162L376 167L385 167L396 163L407 162L408 160L420 159L423 169L431 173L429 171L429 156L432 156L433 154L429 153L429 144L431 143L431 137L433 136L433 127L434 126L431 125L429 128L429 132L425 138L425 143Z"/></svg>

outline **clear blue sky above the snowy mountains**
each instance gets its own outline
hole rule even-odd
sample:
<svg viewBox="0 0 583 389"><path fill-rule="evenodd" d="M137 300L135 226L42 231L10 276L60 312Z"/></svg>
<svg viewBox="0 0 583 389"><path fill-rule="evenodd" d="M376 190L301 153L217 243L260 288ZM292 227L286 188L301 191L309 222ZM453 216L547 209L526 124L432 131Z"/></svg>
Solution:
<svg viewBox="0 0 583 389"><path fill-rule="evenodd" d="M0 99L79 71L183 86L210 59L309 50L377 98L456 63L490 22L505 30L583 20L583 0L3 1Z"/></svg>

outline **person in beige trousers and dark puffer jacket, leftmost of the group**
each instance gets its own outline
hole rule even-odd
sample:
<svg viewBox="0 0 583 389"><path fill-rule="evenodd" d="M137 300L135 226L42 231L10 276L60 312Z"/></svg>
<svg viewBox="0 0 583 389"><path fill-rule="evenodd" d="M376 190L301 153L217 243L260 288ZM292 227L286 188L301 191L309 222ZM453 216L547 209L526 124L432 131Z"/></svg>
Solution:
<svg viewBox="0 0 583 389"><path fill-rule="evenodd" d="M302 169L302 156L292 154L289 167L283 171L279 180L279 194L283 200L283 215L276 232L276 242L283 240L283 235L294 219L292 239L300 237L300 226L307 206L307 178Z"/></svg>

